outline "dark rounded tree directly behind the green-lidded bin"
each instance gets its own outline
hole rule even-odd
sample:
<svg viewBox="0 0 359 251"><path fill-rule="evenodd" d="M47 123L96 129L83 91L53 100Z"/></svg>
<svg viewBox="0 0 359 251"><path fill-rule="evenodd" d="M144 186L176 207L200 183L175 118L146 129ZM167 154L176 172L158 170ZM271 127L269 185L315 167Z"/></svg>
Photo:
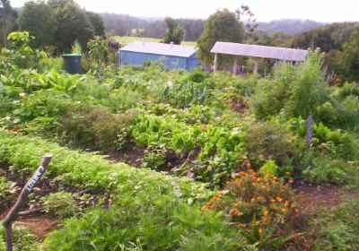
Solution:
<svg viewBox="0 0 359 251"><path fill-rule="evenodd" d="M54 0L52 1L54 2ZM59 2L57 0L56 2ZM63 1L60 1L61 3ZM83 48L86 48L87 42L93 38L94 29L86 12L73 1L66 1L61 8L57 4L57 48L60 52L68 52L71 45L77 39Z"/></svg>

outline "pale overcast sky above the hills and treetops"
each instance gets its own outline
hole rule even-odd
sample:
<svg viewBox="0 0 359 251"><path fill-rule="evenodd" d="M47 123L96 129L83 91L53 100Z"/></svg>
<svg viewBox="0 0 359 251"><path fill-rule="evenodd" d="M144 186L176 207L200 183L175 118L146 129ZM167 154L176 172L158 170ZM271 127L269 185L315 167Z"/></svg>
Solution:
<svg viewBox="0 0 359 251"><path fill-rule="evenodd" d="M26 0L10 0L13 7ZM278 19L311 19L319 22L359 21L358 0L77 0L88 11L126 13L132 16L207 18L218 8L234 11L248 4L259 22Z"/></svg>

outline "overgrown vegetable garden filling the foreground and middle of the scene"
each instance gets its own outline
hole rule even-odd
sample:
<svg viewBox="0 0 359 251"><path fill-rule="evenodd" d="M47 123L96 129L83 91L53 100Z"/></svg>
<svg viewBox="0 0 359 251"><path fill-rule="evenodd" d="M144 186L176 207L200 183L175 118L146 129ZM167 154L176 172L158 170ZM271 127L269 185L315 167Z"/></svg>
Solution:
<svg viewBox="0 0 359 251"><path fill-rule="evenodd" d="M10 39L1 220L54 155L14 250L359 250L359 85L329 85L319 51L265 78L96 60L71 75ZM45 216L40 236L22 224Z"/></svg>

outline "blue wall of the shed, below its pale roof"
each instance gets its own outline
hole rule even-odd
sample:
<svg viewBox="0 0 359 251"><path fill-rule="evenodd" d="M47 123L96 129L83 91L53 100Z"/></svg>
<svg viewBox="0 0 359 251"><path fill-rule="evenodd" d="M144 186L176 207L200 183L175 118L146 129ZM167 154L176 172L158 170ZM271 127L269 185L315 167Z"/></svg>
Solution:
<svg viewBox="0 0 359 251"><path fill-rule="evenodd" d="M154 54L146 54L132 51L123 51L118 52L118 65L143 65L144 61L153 60L157 62L162 62L169 69L187 69L190 70L193 67L198 66L198 59L196 54L190 57L180 57L180 56L161 56Z"/></svg>

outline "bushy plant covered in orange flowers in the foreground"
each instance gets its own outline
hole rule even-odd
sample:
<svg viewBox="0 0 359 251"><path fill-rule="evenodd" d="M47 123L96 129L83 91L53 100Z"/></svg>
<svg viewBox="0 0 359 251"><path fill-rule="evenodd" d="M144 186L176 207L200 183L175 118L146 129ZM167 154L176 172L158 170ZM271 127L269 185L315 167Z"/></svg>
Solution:
<svg viewBox="0 0 359 251"><path fill-rule="evenodd" d="M245 245L282 250L285 242L296 235L293 222L300 217L299 197L283 179L269 174L261 176L253 169L232 177L224 190L201 210L227 215L232 224L237 225Z"/></svg>

